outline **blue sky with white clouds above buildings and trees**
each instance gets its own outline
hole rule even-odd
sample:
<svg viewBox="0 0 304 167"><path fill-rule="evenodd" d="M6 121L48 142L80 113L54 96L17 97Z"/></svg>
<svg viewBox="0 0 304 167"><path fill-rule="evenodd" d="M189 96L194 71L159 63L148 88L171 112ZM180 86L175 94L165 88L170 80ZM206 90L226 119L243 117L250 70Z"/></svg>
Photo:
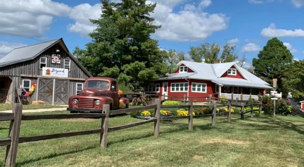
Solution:
<svg viewBox="0 0 304 167"><path fill-rule="evenodd" d="M111 0L119 2L119 0ZM164 50L188 55L205 43L235 45L247 64L273 37L295 60L304 59L304 0L149 0L162 25L151 38ZM86 49L101 15L99 0L0 0L0 58L14 48L63 38L70 53Z"/></svg>

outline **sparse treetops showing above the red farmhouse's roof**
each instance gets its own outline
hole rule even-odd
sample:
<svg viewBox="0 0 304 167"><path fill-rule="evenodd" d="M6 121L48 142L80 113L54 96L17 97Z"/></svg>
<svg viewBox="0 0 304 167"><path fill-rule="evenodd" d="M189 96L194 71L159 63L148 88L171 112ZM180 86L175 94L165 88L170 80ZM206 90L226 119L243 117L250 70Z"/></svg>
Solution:
<svg viewBox="0 0 304 167"><path fill-rule="evenodd" d="M191 47L189 55L195 62L202 62L202 59L205 59L205 63L232 62L238 58L236 46L226 43L221 56L218 57L220 49L218 44L205 43L198 47Z"/></svg>

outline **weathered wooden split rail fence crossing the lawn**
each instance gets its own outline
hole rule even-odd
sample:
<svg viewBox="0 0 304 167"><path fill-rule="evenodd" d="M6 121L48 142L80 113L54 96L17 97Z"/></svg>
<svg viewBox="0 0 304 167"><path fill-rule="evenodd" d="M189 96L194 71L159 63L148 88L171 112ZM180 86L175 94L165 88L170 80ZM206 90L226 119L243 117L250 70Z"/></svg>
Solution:
<svg viewBox="0 0 304 167"><path fill-rule="evenodd" d="M218 107L227 106L228 112L220 112L217 113ZM245 105L245 103L236 104L231 101L228 103L217 103L213 101L211 105L193 105L192 101L189 101L187 105L161 105L161 100L156 99L154 105L137 107L137 108L127 108L121 110L109 110L109 105L103 105L103 109L101 113L73 113L73 114L22 114L22 104L14 104L12 113L0 113L0 121L11 121L8 138L0 139L0 146L7 146L5 164L6 166L15 166L16 157L17 157L17 148L19 143L26 142L35 142L41 140L49 140L49 139L58 139L65 137L72 137L78 135L88 135L88 134L100 134L100 147L105 148L107 145L107 136L108 132L114 132L126 128L131 128L135 126L139 126L141 124L146 124L150 122L154 122L154 136L158 137L160 135L160 121L161 120L174 120L174 119L188 119L188 130L193 130L193 118L199 117L211 117L211 124L214 127L216 123L216 116L227 115L227 121L231 121L231 107L241 107L241 119L244 119L244 114L251 112L251 117L253 116L253 106L254 103L251 103L251 110L244 112L244 107L249 106ZM261 106L261 105L259 105ZM211 114L201 114L201 115L193 115L194 108L202 108L209 107L212 108ZM188 108L187 116L166 116L161 117L161 109L162 108ZM261 107L260 107L261 108ZM109 116L117 115L122 113L136 112L141 110L155 110L155 117L151 119L125 124L117 127L108 127ZM260 110L260 109L259 109ZM37 119L68 119L68 118L94 118L101 117L101 127L100 129L82 131L82 132L70 132L70 133L59 133L59 134L51 134L51 135L41 135L41 136L31 136L31 137L19 137L20 134L20 125L21 120L37 120Z"/></svg>

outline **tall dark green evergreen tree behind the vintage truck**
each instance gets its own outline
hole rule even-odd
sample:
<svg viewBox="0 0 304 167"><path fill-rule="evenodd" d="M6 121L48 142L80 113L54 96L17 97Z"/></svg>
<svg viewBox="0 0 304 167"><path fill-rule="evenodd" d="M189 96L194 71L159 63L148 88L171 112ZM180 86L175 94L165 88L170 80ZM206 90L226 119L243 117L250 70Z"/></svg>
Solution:
<svg viewBox="0 0 304 167"><path fill-rule="evenodd" d="M93 76L117 78L128 89L140 89L164 74L166 55L158 41L150 38L161 27L149 17L156 4L146 4L146 0L101 3L101 18L90 20L97 25L89 34L92 42L86 50L73 52L78 60Z"/></svg>

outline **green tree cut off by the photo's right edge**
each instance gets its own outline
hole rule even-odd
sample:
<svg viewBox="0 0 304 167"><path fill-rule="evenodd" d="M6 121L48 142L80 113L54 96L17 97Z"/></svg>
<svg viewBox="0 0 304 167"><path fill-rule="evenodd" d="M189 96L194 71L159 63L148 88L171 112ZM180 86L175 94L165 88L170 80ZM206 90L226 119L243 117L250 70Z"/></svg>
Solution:
<svg viewBox="0 0 304 167"><path fill-rule="evenodd" d="M292 98L296 101L304 99L304 60L293 61L286 67L282 78L282 92L287 95L292 93Z"/></svg>

